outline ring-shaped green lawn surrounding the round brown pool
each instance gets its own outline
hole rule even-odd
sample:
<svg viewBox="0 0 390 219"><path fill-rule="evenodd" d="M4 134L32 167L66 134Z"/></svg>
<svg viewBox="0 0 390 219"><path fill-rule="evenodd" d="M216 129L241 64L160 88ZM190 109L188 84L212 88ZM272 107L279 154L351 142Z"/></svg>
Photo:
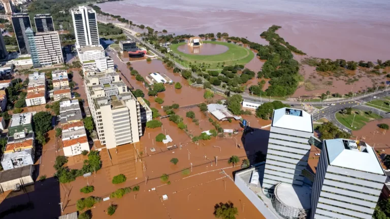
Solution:
<svg viewBox="0 0 390 219"><path fill-rule="evenodd" d="M209 69L222 69L221 65L222 62L225 62L225 66L228 65L245 65L246 63L250 62L254 54L249 49L246 49L244 47L237 46L233 43L228 42L219 42L219 41L203 41L203 43L212 43L212 44L218 44L223 45L229 48L228 51L218 54L218 55L193 55L193 54L185 54L183 52L180 52L177 48L181 45L185 45L185 42L174 44L171 46L171 50L176 54L181 56L181 58L184 60L185 64L189 64L191 62L192 64L195 63L205 63L210 64L211 67ZM180 62L179 62L180 63ZM217 67L217 64L219 63L219 67Z"/></svg>

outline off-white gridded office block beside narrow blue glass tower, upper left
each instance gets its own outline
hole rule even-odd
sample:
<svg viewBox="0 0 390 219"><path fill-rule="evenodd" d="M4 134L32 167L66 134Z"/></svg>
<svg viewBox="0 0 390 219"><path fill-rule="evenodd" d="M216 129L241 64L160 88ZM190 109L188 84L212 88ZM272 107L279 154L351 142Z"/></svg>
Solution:
<svg viewBox="0 0 390 219"><path fill-rule="evenodd" d="M34 39L39 62L42 66L63 63L58 31L37 32Z"/></svg>

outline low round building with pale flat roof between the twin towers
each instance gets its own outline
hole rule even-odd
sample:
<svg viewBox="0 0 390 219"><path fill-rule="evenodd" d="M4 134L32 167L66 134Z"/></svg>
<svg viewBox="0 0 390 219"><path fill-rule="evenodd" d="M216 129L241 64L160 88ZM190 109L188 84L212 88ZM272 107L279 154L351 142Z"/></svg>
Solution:
<svg viewBox="0 0 390 219"><path fill-rule="evenodd" d="M274 190L272 205L284 218L301 218L310 211L311 190L307 186L279 183Z"/></svg>

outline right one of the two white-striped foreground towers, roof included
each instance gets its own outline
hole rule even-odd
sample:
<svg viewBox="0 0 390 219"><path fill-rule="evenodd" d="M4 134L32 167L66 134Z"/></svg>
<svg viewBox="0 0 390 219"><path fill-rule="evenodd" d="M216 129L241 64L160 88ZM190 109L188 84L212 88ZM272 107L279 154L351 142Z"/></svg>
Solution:
<svg viewBox="0 0 390 219"><path fill-rule="evenodd" d="M362 141L324 140L311 192L311 218L371 219L383 183L374 149Z"/></svg>

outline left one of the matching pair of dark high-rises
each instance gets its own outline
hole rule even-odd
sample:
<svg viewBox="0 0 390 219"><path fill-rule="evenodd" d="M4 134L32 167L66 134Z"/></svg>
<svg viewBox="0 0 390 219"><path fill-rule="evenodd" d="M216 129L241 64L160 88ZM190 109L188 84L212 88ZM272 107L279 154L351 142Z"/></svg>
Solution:
<svg viewBox="0 0 390 219"><path fill-rule="evenodd" d="M27 28L31 28L30 17L26 13L15 13L11 20L20 54L30 54L31 51L26 37Z"/></svg>

